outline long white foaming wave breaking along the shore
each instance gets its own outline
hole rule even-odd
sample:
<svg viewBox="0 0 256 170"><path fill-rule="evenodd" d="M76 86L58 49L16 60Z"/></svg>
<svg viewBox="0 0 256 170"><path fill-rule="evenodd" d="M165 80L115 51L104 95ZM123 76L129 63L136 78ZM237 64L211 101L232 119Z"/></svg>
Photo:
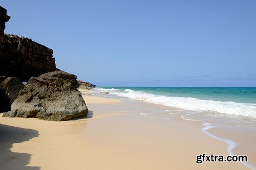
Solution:
<svg viewBox="0 0 256 170"><path fill-rule="evenodd" d="M241 115L256 118L256 104L221 102L200 100L196 98L181 98L164 95L155 95L141 91L125 89L123 91L113 91L111 94L124 96L134 100L145 101L148 103L160 104L169 107L178 107L185 110L195 111L215 111L230 115Z"/></svg>

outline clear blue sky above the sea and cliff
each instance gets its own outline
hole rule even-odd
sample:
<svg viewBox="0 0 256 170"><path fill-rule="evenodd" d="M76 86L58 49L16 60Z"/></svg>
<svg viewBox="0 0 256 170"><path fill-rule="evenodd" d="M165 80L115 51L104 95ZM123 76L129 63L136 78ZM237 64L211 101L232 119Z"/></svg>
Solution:
<svg viewBox="0 0 256 170"><path fill-rule="evenodd" d="M5 33L98 86L256 87L256 1L1 1Z"/></svg>

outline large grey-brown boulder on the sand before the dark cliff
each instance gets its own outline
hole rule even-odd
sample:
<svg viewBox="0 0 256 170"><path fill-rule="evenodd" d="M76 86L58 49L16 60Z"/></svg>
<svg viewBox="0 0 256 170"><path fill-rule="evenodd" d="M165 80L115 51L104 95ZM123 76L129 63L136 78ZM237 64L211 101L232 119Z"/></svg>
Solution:
<svg viewBox="0 0 256 170"><path fill-rule="evenodd" d="M76 86L76 76L61 70L32 77L3 116L55 121L86 116L88 109Z"/></svg>

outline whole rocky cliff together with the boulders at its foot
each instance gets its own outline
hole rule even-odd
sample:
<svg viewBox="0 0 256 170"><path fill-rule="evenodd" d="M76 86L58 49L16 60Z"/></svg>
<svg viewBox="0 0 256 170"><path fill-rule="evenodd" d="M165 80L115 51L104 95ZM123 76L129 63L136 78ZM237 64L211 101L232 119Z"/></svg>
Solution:
<svg viewBox="0 0 256 170"><path fill-rule="evenodd" d="M88 109L77 88L95 85L78 83L75 75L57 69L50 48L4 34L9 19L0 7L0 113L54 121L86 116ZM28 83L24 87L20 81Z"/></svg>

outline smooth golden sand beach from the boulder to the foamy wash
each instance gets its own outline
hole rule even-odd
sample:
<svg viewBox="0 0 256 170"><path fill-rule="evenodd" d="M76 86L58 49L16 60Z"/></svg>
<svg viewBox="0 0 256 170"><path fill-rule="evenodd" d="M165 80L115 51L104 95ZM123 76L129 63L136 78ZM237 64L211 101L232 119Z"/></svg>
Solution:
<svg viewBox="0 0 256 170"><path fill-rule="evenodd" d="M239 162L197 164L203 153L227 156L228 144L203 133L202 122L182 119L177 108L81 92L89 109L84 118L1 117L0 168L249 169ZM163 110L173 112L163 118L147 114Z"/></svg>

